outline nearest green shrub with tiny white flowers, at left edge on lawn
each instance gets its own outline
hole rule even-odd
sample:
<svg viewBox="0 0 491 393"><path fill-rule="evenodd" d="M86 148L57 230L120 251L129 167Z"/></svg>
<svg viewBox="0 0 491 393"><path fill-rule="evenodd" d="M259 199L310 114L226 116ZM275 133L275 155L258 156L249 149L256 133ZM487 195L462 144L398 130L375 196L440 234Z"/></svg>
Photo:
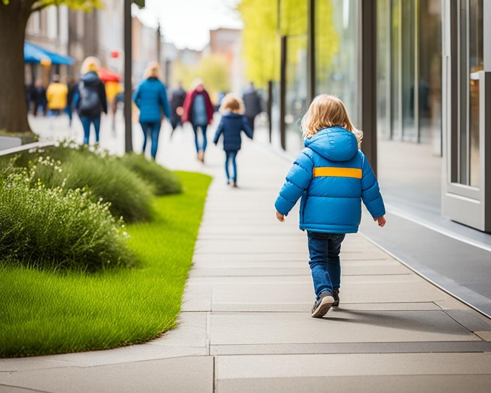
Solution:
<svg viewBox="0 0 491 393"><path fill-rule="evenodd" d="M57 165L57 169L58 168ZM48 188L34 171L0 176L0 261L36 268L129 266L124 225L87 189Z"/></svg>

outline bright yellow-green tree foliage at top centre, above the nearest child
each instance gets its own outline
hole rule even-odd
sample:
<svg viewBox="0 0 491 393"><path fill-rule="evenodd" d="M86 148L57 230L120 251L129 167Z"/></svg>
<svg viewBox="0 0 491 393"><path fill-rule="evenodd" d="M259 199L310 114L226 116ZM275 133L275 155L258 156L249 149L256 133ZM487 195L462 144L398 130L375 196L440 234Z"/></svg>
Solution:
<svg viewBox="0 0 491 393"><path fill-rule="evenodd" d="M279 80L281 36L288 37L289 66L296 65L301 58L299 54L307 51L307 3L307 0L241 0L237 6L244 23L242 57L247 77L258 86L264 87L269 80ZM316 2L316 69L319 80L329 77L332 58L340 50L333 11L332 0ZM295 71L295 67L288 67L288 72ZM287 78L293 79L294 75Z"/></svg>

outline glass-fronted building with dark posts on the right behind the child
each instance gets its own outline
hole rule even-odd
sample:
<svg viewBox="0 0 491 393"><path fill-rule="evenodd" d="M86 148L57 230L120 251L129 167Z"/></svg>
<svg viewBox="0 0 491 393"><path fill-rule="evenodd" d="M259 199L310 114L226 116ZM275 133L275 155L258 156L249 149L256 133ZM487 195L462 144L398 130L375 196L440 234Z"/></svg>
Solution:
<svg viewBox="0 0 491 393"><path fill-rule="evenodd" d="M272 143L298 152L310 100L337 95L364 132L389 206L491 231L491 2L280 0L278 7Z"/></svg>

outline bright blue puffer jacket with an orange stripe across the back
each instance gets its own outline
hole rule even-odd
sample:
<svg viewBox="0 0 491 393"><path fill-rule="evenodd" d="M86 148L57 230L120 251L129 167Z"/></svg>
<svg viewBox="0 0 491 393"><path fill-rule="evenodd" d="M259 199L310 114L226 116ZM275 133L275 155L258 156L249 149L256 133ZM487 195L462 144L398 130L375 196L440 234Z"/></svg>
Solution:
<svg viewBox="0 0 491 393"><path fill-rule="evenodd" d="M276 199L287 214L300 202L300 229L355 233L361 221L361 200L372 217L385 214L375 174L356 137L342 127L325 128L305 140Z"/></svg>

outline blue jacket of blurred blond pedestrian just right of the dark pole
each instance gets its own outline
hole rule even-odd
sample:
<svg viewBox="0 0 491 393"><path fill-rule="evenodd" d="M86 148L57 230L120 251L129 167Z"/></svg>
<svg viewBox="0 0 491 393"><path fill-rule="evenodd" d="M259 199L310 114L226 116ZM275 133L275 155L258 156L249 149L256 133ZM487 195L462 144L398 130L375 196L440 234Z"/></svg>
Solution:
<svg viewBox="0 0 491 393"><path fill-rule="evenodd" d="M162 120L161 108L164 115L170 119L169 101L164 83L158 78L144 79L133 94L133 101L140 109L141 122L158 122Z"/></svg>

